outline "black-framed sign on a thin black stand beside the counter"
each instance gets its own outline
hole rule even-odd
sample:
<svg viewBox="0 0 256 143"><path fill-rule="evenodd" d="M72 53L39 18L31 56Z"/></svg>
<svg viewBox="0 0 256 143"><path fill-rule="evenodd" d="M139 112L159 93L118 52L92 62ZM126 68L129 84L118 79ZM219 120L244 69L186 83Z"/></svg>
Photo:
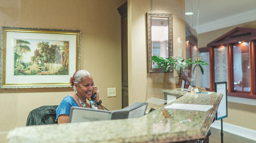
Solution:
<svg viewBox="0 0 256 143"><path fill-rule="evenodd" d="M221 142L223 143L223 121L222 119L227 117L227 82L215 82L215 92L222 93L223 97L220 101L216 120L221 119Z"/></svg>

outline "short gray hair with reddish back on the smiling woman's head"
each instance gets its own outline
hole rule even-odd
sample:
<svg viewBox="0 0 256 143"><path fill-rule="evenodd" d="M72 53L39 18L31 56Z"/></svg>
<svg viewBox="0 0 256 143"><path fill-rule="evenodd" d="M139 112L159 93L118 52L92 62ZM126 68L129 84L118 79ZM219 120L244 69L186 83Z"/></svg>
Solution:
<svg viewBox="0 0 256 143"><path fill-rule="evenodd" d="M80 69L74 73L73 77L70 78L70 84L73 87L74 91L75 91L74 83L79 85L81 82L81 79L87 76L91 76L91 74L84 69Z"/></svg>

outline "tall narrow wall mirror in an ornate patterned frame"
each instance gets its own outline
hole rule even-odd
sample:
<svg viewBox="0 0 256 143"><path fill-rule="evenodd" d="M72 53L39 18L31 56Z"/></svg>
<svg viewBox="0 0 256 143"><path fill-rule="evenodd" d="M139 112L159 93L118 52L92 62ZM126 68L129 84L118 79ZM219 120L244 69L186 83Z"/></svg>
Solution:
<svg viewBox="0 0 256 143"><path fill-rule="evenodd" d="M148 73L165 72L152 64L152 56L173 56L172 14L147 13ZM173 69L170 69L172 72Z"/></svg>

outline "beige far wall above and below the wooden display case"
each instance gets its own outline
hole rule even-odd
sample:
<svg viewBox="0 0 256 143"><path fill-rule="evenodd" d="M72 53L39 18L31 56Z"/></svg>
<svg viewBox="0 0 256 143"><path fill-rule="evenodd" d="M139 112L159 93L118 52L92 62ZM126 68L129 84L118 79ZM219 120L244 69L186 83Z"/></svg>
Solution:
<svg viewBox="0 0 256 143"><path fill-rule="evenodd" d="M236 27L244 28L256 28L256 21L239 24L236 26L230 26L219 30L214 30L202 34L198 34L198 47L206 47L208 43L229 32ZM199 81L200 82L200 81ZM256 130L255 118L256 118L256 106L227 103L228 117L223 119L223 122L238 125L244 128Z"/></svg>

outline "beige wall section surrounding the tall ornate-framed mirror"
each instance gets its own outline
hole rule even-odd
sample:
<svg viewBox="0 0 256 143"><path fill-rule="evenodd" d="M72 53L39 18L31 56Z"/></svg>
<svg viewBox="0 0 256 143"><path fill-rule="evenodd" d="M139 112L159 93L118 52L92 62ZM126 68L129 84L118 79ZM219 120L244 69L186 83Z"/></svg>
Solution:
<svg viewBox="0 0 256 143"><path fill-rule="evenodd" d="M183 2L181 4L184 5ZM185 43L184 14L176 0L128 0L128 77L129 104L148 98L163 98L163 88L175 88L173 73L147 73L146 12L173 14L173 55L181 56ZM178 42L178 37L181 42ZM165 87L165 81L171 82ZM148 105L155 107L153 104ZM155 107L157 108L157 107Z"/></svg>

